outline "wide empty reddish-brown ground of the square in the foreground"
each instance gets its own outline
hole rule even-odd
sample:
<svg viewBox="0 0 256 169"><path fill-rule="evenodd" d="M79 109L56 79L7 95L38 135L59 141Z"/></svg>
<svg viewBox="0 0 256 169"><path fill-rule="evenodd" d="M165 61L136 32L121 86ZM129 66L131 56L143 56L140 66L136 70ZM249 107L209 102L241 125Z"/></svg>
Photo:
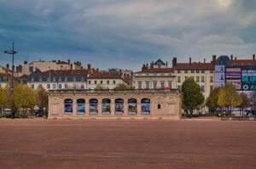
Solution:
<svg viewBox="0 0 256 169"><path fill-rule="evenodd" d="M0 168L256 168L256 122L0 119Z"/></svg>

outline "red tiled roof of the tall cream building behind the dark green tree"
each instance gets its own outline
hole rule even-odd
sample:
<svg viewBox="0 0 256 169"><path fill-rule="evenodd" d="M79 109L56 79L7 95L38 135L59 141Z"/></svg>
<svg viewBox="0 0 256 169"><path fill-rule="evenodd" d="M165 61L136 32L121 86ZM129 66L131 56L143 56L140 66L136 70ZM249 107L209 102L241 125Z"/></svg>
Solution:
<svg viewBox="0 0 256 169"><path fill-rule="evenodd" d="M177 64L177 70L214 70L212 63L179 63Z"/></svg>

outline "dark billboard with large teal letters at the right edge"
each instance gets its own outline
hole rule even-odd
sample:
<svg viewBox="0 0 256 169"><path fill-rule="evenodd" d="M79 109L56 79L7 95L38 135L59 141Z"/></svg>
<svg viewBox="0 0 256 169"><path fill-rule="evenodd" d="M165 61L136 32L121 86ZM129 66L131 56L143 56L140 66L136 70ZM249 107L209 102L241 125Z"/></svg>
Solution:
<svg viewBox="0 0 256 169"><path fill-rule="evenodd" d="M256 67L254 69L244 68L241 70L241 90L256 90Z"/></svg>

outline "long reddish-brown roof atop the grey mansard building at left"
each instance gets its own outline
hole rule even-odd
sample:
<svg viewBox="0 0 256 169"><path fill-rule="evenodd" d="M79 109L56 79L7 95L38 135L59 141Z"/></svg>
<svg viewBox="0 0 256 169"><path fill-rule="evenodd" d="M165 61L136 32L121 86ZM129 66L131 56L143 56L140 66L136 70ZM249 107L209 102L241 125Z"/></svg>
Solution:
<svg viewBox="0 0 256 169"><path fill-rule="evenodd" d="M30 76L49 76L49 73L50 76L87 76L88 70L47 70L40 73L32 73Z"/></svg>

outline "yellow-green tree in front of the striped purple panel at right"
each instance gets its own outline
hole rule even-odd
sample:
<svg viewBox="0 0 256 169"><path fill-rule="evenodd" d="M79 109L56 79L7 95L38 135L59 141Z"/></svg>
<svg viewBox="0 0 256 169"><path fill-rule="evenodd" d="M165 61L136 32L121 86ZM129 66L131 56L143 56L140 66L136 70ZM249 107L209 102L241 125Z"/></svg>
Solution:
<svg viewBox="0 0 256 169"><path fill-rule="evenodd" d="M227 107L231 114L231 109L239 105L241 105L241 98L236 92L236 87L231 82L227 82L219 91L218 106Z"/></svg>

